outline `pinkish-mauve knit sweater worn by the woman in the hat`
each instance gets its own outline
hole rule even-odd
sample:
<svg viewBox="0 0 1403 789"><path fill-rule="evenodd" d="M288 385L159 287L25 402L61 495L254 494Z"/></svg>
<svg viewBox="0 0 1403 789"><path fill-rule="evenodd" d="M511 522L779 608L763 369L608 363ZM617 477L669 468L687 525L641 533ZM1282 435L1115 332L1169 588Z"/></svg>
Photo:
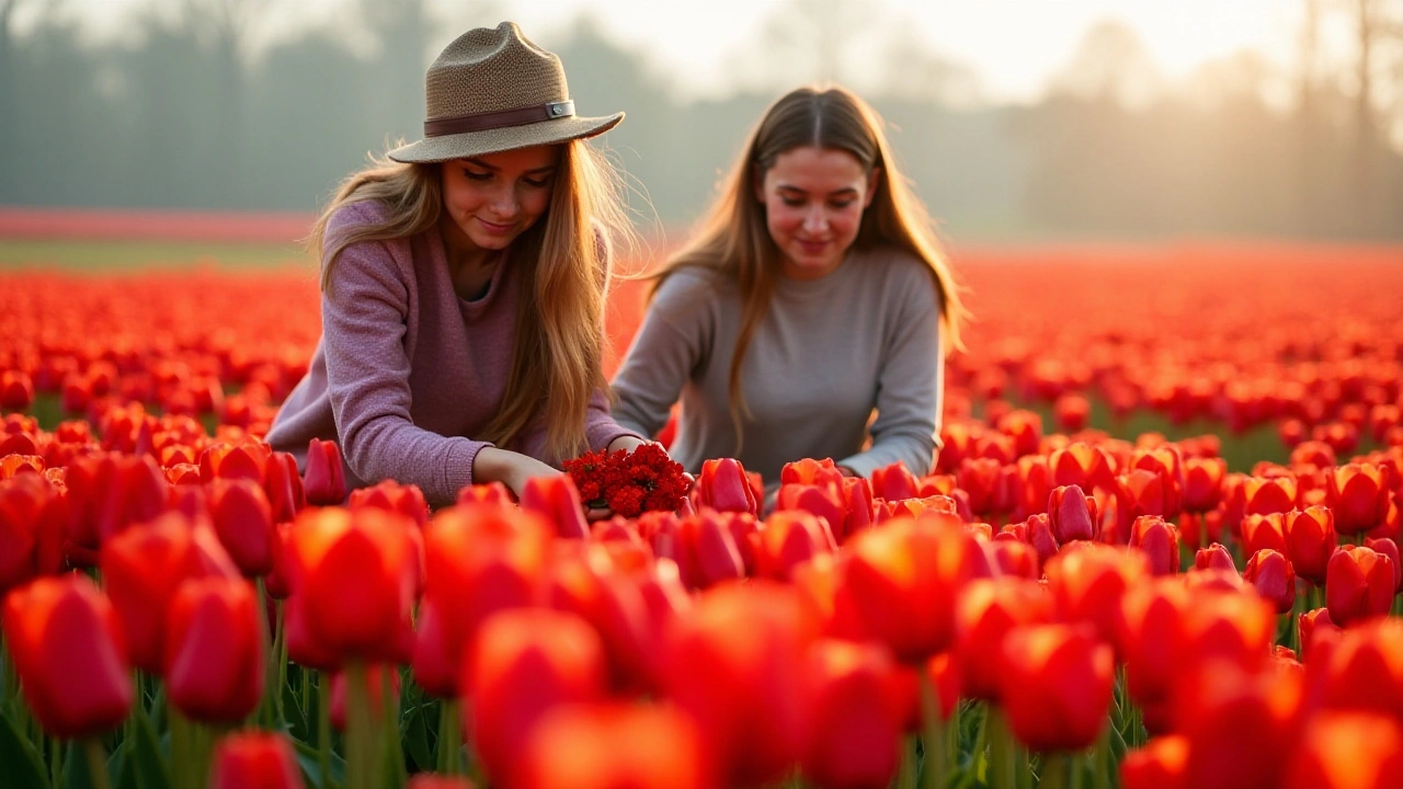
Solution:
<svg viewBox="0 0 1403 789"><path fill-rule="evenodd" d="M383 216L377 202L342 206L327 237ZM511 368L516 289L509 256L487 293L453 291L436 230L347 247L321 295L321 340L307 375L282 404L268 442L306 462L313 438L341 445L347 484L393 479L449 504L473 483L474 441L497 413ZM591 449L637 435L609 416L596 393L586 417ZM504 449L544 455L546 424L536 418Z"/></svg>

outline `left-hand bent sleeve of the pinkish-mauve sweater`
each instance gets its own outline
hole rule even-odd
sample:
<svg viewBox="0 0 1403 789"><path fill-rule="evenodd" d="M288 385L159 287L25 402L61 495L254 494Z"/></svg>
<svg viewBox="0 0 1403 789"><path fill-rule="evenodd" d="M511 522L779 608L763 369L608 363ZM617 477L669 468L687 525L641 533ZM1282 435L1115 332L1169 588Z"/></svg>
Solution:
<svg viewBox="0 0 1403 789"><path fill-rule="evenodd" d="M404 350L410 285L380 241L347 247L321 299L327 383L347 465L362 480L417 484L434 504L473 482L487 442L443 437L410 417L410 358Z"/></svg>

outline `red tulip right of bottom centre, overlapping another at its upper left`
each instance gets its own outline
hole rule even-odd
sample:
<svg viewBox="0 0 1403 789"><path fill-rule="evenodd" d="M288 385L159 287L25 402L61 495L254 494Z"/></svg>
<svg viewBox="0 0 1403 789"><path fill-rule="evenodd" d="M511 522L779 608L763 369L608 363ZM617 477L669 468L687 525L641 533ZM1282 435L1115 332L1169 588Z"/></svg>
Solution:
<svg viewBox="0 0 1403 789"><path fill-rule="evenodd" d="M1034 751L1092 745L1111 706L1115 657L1089 628L1024 625L1003 639L1000 698L1013 736Z"/></svg>

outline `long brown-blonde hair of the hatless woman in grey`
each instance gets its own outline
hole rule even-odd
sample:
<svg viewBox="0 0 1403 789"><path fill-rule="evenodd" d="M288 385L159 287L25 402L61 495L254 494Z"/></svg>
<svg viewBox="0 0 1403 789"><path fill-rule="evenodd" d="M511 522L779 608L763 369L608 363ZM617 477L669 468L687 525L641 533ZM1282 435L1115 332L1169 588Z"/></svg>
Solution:
<svg viewBox="0 0 1403 789"><path fill-rule="evenodd" d="M961 300L962 288L946 261L925 204L891 154L881 117L842 87L790 91L760 118L699 232L668 260L652 286L655 295L675 271L700 267L720 272L738 288L742 299L741 331L735 338L728 379L731 420L738 442L742 439L741 416L749 413L741 390L741 364L769 310L780 277L780 251L770 239L765 206L756 199L753 185L781 153L805 146L843 150L856 157L868 174L877 168L882 171L873 201L863 211L853 247L891 246L920 258L940 295L941 343L946 348L964 347L960 334L968 310Z"/></svg>

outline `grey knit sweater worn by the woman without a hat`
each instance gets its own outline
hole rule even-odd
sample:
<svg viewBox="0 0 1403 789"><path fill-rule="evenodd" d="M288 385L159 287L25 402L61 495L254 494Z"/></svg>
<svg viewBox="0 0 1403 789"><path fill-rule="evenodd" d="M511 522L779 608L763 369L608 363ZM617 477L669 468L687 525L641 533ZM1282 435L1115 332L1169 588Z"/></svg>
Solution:
<svg viewBox="0 0 1403 789"><path fill-rule="evenodd" d="M925 475L939 441L939 314L929 270L898 250L854 248L821 279L781 278L741 366L751 417L738 452L727 380L741 298L720 274L686 268L658 291L615 376L615 418L654 435L680 394L671 455L689 472L737 458L773 484L790 460L832 458L863 476L895 460Z"/></svg>

